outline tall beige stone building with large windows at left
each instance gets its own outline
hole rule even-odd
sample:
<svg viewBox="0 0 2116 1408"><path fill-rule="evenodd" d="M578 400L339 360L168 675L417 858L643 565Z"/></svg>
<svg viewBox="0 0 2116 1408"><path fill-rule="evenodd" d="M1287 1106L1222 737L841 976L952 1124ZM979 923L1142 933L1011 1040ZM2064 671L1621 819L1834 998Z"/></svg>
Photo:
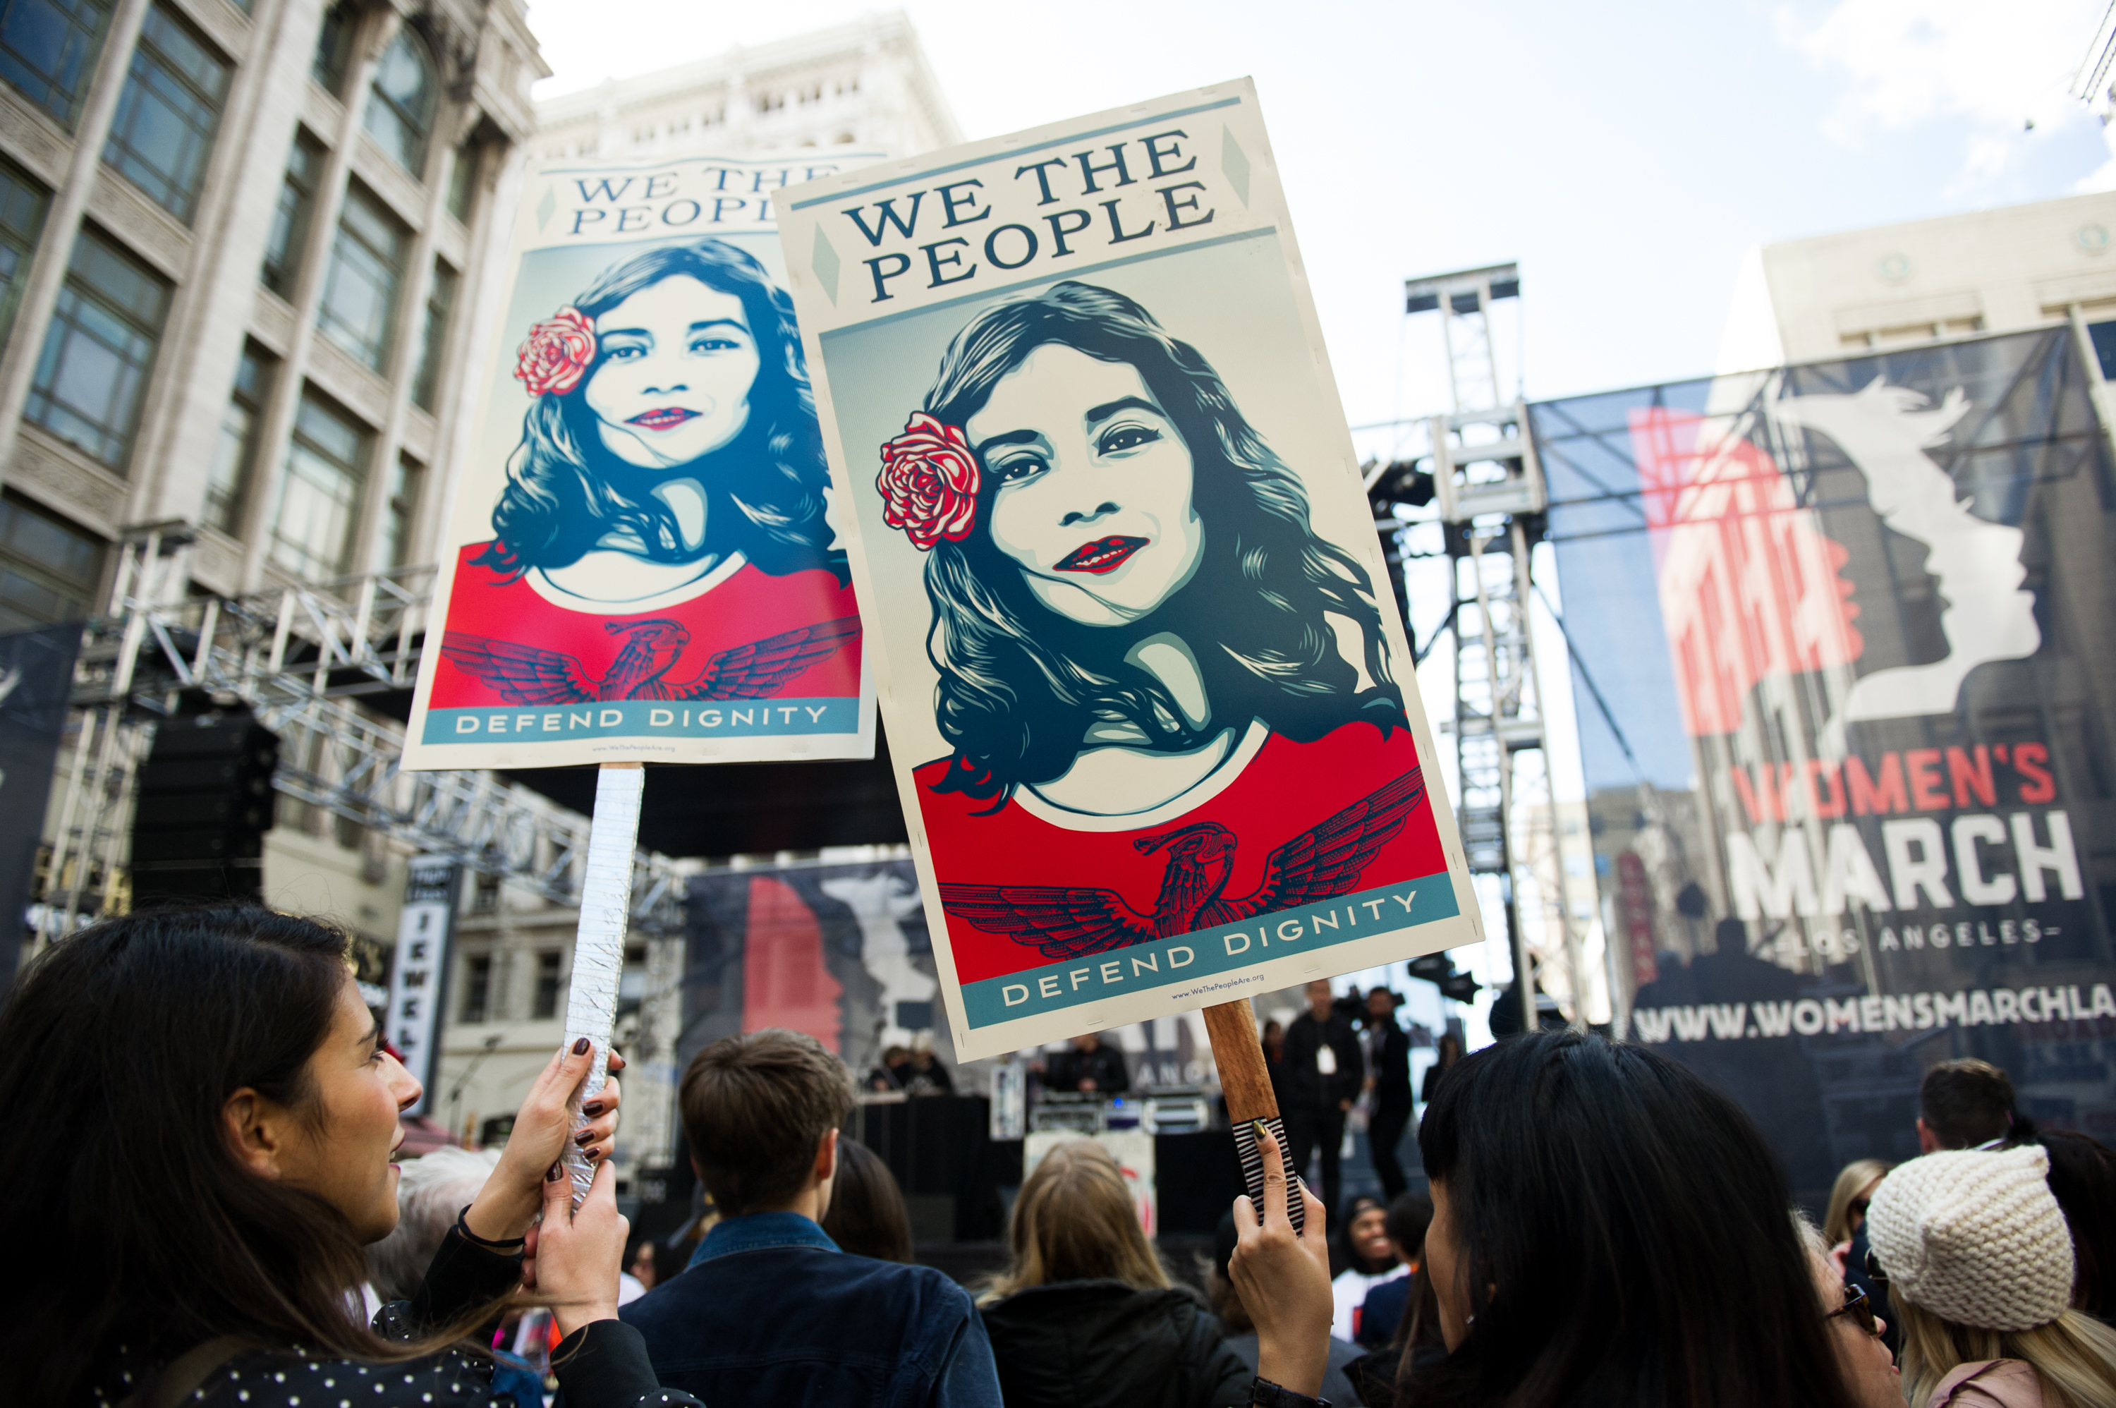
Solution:
<svg viewBox="0 0 2116 1408"><path fill-rule="evenodd" d="M521 0L0 0L0 633L154 525L171 597L432 559L548 72ZM402 868L281 798L264 889L372 953Z"/></svg>

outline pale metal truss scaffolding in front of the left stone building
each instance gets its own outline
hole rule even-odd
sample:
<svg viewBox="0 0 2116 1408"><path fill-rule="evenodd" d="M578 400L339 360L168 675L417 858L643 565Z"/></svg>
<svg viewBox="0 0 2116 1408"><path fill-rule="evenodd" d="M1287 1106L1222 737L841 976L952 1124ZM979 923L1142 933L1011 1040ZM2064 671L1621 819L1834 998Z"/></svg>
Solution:
<svg viewBox="0 0 2116 1408"><path fill-rule="evenodd" d="M133 777L154 722L193 690L279 735L281 794L578 904L588 817L493 773L406 773L402 724L355 703L417 680L434 567L222 599L188 593L188 555L184 525L127 536L110 612L83 633L40 944L123 904ZM645 851L635 864L635 929L681 932L688 868Z"/></svg>

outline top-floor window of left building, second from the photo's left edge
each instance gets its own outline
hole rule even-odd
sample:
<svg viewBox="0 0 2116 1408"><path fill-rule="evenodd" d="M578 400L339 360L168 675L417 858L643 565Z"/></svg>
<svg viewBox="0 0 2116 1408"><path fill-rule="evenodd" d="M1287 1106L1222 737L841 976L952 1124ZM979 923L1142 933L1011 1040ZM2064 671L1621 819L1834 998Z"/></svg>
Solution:
<svg viewBox="0 0 2116 1408"><path fill-rule="evenodd" d="M178 220L190 220L214 152L229 66L159 4L146 13L104 161Z"/></svg>

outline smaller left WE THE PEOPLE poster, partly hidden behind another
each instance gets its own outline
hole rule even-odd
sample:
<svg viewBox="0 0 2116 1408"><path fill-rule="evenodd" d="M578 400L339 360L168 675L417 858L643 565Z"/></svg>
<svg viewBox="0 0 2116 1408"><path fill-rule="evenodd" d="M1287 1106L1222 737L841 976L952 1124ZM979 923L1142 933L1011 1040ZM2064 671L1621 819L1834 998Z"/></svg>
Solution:
<svg viewBox="0 0 2116 1408"><path fill-rule="evenodd" d="M872 161L529 176L404 766L874 756L774 220Z"/></svg>

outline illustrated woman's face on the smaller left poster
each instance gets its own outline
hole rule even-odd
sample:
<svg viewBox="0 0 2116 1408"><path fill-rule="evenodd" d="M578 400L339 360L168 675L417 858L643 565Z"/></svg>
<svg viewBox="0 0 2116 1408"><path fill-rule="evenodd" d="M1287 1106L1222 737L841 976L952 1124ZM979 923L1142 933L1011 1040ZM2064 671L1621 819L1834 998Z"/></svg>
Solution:
<svg viewBox="0 0 2116 1408"><path fill-rule="evenodd" d="M690 464L749 421L758 339L734 294L679 273L597 318L595 341L603 364L582 396L618 459Z"/></svg>

